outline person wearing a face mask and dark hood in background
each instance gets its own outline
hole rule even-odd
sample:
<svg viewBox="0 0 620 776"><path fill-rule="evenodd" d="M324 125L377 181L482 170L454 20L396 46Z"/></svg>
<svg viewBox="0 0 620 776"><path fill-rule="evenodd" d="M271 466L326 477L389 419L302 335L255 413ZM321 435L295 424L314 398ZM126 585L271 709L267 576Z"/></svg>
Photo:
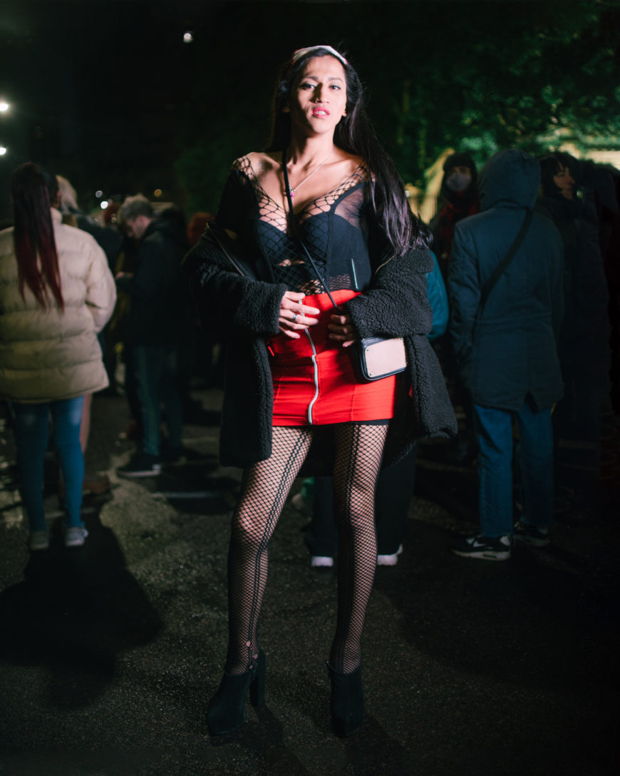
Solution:
<svg viewBox="0 0 620 776"><path fill-rule="evenodd" d="M446 203L431 229L439 268L446 279L454 228L460 220L480 210L476 163L470 154L450 154L443 163L441 194Z"/></svg>

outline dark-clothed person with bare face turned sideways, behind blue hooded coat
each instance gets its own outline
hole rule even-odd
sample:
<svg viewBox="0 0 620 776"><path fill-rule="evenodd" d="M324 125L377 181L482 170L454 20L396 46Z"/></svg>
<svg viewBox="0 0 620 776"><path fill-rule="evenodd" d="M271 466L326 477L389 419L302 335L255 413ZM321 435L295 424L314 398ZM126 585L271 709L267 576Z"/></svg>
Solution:
<svg viewBox="0 0 620 776"><path fill-rule="evenodd" d="M564 317L558 354L564 395L553 412L556 453L591 471L583 483L587 496L598 483L601 466L601 415L610 404L609 292L601 253L595 202L597 168L590 161L556 152L539 158L540 196L536 210L562 236ZM577 192L580 196L577 196ZM563 442L570 450L565 452ZM576 478L570 483L574 493Z"/></svg>

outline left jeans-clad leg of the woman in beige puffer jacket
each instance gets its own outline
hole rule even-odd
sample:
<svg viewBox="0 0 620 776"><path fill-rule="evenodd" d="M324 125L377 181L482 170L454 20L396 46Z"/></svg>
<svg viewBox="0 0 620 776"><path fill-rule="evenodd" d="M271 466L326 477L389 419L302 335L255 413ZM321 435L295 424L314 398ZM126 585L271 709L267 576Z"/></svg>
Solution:
<svg viewBox="0 0 620 776"><path fill-rule="evenodd" d="M47 531L43 511L43 459L50 438L50 405L13 404L19 492L31 531Z"/></svg>

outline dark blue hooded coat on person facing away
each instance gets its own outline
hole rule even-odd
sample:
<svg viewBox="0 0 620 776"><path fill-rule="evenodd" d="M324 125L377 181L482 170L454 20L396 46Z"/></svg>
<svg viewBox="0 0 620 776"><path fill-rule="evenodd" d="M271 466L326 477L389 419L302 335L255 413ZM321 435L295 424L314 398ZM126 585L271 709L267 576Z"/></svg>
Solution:
<svg viewBox="0 0 620 776"><path fill-rule="evenodd" d="M480 176L481 212L455 230L449 332L463 381L483 407L518 410L529 394L543 409L562 395L556 337L563 315L563 245L539 213L478 316L481 289L534 206L539 180L536 159L500 151Z"/></svg>

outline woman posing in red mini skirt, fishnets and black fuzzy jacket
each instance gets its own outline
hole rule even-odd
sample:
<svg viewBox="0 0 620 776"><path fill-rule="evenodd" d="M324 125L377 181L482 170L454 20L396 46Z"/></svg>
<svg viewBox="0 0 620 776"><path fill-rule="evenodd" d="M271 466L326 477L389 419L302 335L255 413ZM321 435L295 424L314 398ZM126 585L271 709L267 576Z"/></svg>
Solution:
<svg viewBox="0 0 620 776"><path fill-rule="evenodd" d="M284 66L270 146L232 165L218 227L219 237L205 233L188 262L203 324L227 339L220 457L245 471L229 551L229 650L208 726L227 733L243 724L249 688L252 701L263 702L257 621L267 544L308 459L311 471L333 476L340 549L331 711L335 733L350 735L363 716L361 637L377 563L382 459L404 455L415 427L451 435L456 422L425 340L432 259L342 54L310 47ZM298 231L338 311L303 258ZM219 248L226 233L245 257L236 261L243 276ZM350 345L374 334L405 335L410 367L402 379L356 380Z"/></svg>

